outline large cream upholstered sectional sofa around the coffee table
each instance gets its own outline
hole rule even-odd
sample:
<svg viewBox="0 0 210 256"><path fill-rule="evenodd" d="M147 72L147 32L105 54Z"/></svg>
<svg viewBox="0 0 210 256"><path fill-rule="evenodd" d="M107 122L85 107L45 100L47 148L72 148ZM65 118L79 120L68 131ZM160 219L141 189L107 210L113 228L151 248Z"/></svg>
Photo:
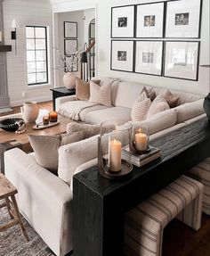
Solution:
<svg viewBox="0 0 210 256"><path fill-rule="evenodd" d="M80 113L80 120L91 124L116 119L131 121L133 102L144 85L109 81L113 105L85 109ZM158 94L160 88L155 90ZM143 120L149 124L151 140L205 116L203 95L171 92L180 97L180 105ZM75 100L74 95L58 98L57 108L62 103ZM27 154L18 148L4 153L5 175L19 191L17 201L21 213L56 255L64 255L73 249L72 178L77 172L96 164L97 137L62 145L59 148L58 176L38 165L33 153Z"/></svg>

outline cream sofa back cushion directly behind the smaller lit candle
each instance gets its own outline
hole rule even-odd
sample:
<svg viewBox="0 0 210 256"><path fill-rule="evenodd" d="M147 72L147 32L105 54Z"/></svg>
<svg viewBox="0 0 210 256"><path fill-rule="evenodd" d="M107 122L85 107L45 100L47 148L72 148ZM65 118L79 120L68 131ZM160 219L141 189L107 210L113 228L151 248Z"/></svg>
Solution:
<svg viewBox="0 0 210 256"><path fill-rule="evenodd" d="M134 121L132 123L135 124ZM176 123L176 112L174 109L162 111L151 116L148 120L138 123L147 124L149 126L149 135L152 135L166 128L173 127Z"/></svg>

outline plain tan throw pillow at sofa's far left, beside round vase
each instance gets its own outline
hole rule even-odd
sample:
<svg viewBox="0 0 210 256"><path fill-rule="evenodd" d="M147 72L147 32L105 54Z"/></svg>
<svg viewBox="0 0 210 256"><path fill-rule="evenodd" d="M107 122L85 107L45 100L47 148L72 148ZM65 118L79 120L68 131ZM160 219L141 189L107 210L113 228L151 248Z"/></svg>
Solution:
<svg viewBox="0 0 210 256"><path fill-rule="evenodd" d="M90 98L90 83L76 79L76 98L80 101L88 101Z"/></svg>

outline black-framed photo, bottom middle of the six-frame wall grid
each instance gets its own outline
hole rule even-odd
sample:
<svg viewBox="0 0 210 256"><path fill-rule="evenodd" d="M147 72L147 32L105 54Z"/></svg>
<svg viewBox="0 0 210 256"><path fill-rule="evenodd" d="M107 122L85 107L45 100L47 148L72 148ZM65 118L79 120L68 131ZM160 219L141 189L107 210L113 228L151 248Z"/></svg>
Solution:
<svg viewBox="0 0 210 256"><path fill-rule="evenodd" d="M140 61L138 61L138 57L139 57L138 44L144 46L144 48L145 48L145 52L140 51L140 54L141 54ZM152 48L152 45L153 45L153 48ZM159 50L158 50L157 46L160 47ZM133 56L134 57L134 73L149 75L149 76L157 76L157 77L161 77L163 75L164 49L165 49L164 41L162 41L162 40L136 40L134 49L135 49L135 54ZM151 53L151 51L152 51L152 53ZM155 53L155 51L158 51L158 52ZM145 56L143 55L143 53L145 54ZM160 54L159 57L158 57L158 54ZM143 64L143 58L146 58L144 64ZM151 58L152 58L152 60L151 60ZM154 62L156 62L155 65L153 64ZM159 63L159 65L160 65L159 71L158 71L158 69L155 69L158 62L160 62ZM140 68L140 64L142 65L142 68ZM144 71L143 71L143 68L144 68L143 66L145 67ZM149 68L150 68L150 70L149 70ZM149 70L149 72L147 72L146 70Z"/></svg>

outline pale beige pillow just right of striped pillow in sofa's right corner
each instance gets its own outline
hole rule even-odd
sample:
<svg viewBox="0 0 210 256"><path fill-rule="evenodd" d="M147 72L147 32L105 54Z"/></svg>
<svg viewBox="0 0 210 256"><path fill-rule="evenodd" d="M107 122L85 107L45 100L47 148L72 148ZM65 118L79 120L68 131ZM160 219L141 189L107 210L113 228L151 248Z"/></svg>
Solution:
<svg viewBox="0 0 210 256"><path fill-rule="evenodd" d="M170 107L166 102L165 98L162 95L158 95L149 107L146 120L149 119L149 117L157 114L158 112L166 111L169 109Z"/></svg>

